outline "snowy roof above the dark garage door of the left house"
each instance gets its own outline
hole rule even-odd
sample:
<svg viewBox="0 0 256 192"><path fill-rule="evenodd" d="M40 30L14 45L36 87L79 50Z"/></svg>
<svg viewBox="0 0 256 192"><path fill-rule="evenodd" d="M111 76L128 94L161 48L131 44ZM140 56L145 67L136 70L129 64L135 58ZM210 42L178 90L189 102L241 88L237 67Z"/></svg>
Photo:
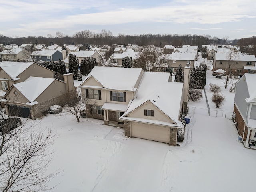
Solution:
<svg viewBox="0 0 256 192"><path fill-rule="evenodd" d="M24 82L13 84L13 86L32 103L54 80L56 79L29 77Z"/></svg>

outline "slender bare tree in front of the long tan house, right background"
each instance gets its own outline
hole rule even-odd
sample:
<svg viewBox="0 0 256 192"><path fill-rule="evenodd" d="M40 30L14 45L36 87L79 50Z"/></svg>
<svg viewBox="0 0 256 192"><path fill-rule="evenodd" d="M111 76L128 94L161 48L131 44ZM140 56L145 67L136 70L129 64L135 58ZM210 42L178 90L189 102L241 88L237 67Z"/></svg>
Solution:
<svg viewBox="0 0 256 192"><path fill-rule="evenodd" d="M226 68L226 75L224 78L221 78L225 85L225 89L229 84L232 84L238 80L236 72L233 72L232 68L234 68L236 61L238 61L239 58L239 55L234 51L230 51L226 54L226 61L223 62L223 66Z"/></svg>

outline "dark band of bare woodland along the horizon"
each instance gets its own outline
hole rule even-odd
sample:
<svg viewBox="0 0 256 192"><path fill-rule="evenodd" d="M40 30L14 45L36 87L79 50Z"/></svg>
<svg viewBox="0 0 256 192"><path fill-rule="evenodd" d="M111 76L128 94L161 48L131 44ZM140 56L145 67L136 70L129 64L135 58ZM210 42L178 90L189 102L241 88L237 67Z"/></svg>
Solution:
<svg viewBox="0 0 256 192"><path fill-rule="evenodd" d="M137 45L155 45L157 47L164 47L165 45L173 45L175 47L184 44L201 47L204 44L226 44L227 38L211 37L210 35L179 35L179 34L135 34L125 35L118 34L114 36L111 31L102 29L101 32L95 33L90 30L82 30L76 32L72 36L63 34L60 31L56 32L56 36L50 34L47 37L43 36L28 36L28 37L7 37L0 34L1 44L45 44L50 46L52 44L137 44ZM238 40L233 40L232 44L236 44Z"/></svg>

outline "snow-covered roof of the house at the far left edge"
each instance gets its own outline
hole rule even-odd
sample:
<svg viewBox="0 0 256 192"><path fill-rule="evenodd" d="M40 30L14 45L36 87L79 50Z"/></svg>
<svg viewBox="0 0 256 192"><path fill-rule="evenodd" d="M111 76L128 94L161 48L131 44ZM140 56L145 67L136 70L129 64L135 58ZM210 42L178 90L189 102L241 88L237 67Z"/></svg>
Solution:
<svg viewBox="0 0 256 192"><path fill-rule="evenodd" d="M31 66L33 62L0 62L0 67L13 79L18 80L18 75Z"/></svg>

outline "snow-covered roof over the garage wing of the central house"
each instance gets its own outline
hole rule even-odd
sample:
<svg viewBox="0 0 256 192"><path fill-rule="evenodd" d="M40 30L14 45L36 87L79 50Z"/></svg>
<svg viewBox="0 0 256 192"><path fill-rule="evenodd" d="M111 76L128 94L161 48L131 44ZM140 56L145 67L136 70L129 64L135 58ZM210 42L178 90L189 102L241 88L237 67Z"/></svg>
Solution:
<svg viewBox="0 0 256 192"><path fill-rule="evenodd" d="M169 77L169 73L144 72L134 99L122 118L125 119L128 113L150 101L178 124L183 83L168 82Z"/></svg>

